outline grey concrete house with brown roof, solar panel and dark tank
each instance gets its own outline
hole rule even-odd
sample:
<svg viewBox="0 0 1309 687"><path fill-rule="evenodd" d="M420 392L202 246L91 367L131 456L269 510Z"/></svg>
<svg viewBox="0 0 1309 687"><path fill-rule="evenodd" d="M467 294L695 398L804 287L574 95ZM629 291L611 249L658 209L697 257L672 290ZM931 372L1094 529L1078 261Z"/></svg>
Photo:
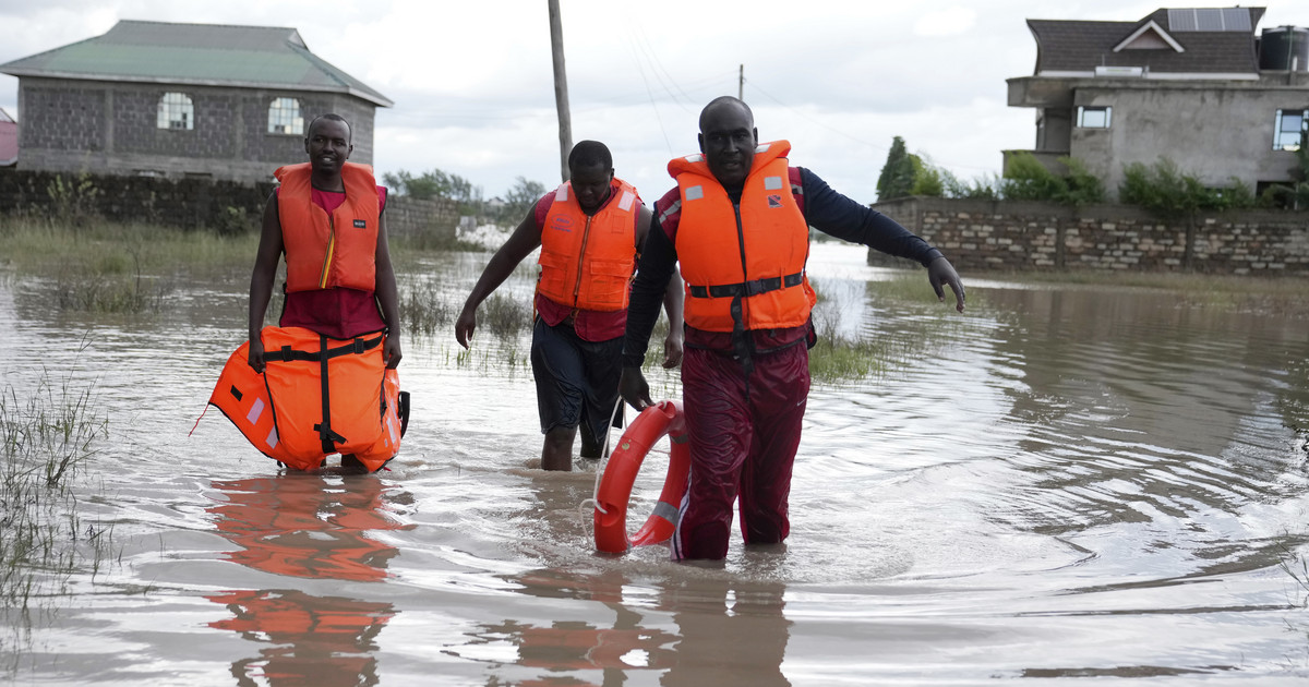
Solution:
<svg viewBox="0 0 1309 687"><path fill-rule="evenodd" d="M1071 156L1113 194L1130 162L1161 157L1210 186L1285 182L1309 122L1309 30L1255 35L1263 8L1157 9L1138 21L1028 20L1031 76L1009 105L1033 107L1030 150ZM1005 150L1005 164L1016 150Z"/></svg>

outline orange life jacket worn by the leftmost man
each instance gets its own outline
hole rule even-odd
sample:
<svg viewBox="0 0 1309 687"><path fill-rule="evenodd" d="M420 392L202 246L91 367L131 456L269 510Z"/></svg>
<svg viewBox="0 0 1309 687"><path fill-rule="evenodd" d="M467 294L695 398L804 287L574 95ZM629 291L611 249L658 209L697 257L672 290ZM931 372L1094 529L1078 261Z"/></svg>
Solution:
<svg viewBox="0 0 1309 687"><path fill-rule="evenodd" d="M373 291L377 284L380 204L373 169L346 162L340 178L346 202L331 215L315 205L309 162L278 167L278 217L287 251L287 291L350 287Z"/></svg>

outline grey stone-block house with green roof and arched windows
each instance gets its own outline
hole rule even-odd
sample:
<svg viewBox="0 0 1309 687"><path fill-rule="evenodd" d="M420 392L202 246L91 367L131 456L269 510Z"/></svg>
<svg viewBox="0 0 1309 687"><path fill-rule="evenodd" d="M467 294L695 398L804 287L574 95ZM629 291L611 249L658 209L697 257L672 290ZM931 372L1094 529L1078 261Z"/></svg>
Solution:
<svg viewBox="0 0 1309 687"><path fill-rule="evenodd" d="M374 111L394 105L287 27L120 21L0 72L18 77L25 170L271 181L325 113L372 164Z"/></svg>

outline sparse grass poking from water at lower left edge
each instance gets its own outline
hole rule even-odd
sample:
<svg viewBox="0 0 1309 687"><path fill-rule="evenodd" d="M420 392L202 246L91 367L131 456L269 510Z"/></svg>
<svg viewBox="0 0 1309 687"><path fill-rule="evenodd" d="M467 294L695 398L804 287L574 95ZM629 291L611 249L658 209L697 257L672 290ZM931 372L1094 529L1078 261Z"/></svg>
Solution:
<svg viewBox="0 0 1309 687"><path fill-rule="evenodd" d="M68 594L75 573L94 577L114 560L113 526L80 514L75 492L106 437L94 386L43 374L30 395L9 385L0 391L0 618L8 629L0 656L10 661L34 614Z"/></svg>

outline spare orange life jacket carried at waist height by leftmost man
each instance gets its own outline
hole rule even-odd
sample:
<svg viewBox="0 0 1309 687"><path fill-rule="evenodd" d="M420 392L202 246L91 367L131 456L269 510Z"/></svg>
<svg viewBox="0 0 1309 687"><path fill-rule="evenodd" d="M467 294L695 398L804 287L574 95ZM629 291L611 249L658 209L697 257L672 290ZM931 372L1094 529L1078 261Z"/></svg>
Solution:
<svg viewBox="0 0 1309 687"><path fill-rule="evenodd" d="M232 353L209 395L264 455L315 470L334 453L353 454L369 472L401 449L408 419L399 374L382 360L381 332L329 339L302 327L264 327L264 372Z"/></svg>

